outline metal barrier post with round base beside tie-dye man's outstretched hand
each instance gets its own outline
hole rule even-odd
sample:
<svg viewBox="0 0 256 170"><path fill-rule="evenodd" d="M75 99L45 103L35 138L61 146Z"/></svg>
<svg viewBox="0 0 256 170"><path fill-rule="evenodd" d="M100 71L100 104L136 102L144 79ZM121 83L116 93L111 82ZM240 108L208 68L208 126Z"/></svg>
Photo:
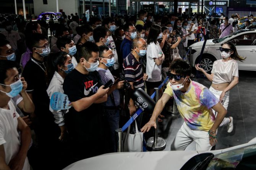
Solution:
<svg viewBox="0 0 256 170"><path fill-rule="evenodd" d="M156 91L156 102L158 101L158 88L154 88ZM166 146L166 142L163 138L158 137L158 120L156 119L156 129L154 131L154 137L147 140L147 148L152 149L152 151L162 150Z"/></svg>

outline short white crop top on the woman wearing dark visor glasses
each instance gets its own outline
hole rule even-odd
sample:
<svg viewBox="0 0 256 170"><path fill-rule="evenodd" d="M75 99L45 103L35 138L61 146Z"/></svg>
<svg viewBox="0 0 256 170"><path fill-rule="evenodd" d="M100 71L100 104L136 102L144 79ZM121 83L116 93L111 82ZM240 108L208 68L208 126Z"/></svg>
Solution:
<svg viewBox="0 0 256 170"><path fill-rule="evenodd" d="M222 59L213 63L211 73L213 84L231 83L233 76L238 77L238 63L236 60L228 60L224 62Z"/></svg>

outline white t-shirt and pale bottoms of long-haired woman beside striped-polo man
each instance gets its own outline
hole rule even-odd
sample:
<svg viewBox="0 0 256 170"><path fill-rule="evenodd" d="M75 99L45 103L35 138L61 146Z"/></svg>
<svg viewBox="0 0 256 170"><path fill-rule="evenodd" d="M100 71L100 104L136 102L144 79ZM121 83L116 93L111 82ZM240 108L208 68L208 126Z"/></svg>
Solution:
<svg viewBox="0 0 256 170"><path fill-rule="evenodd" d="M160 52L164 54L158 42L156 44L152 42L147 46L146 73L148 75L147 81L149 82L161 81L162 65L156 65L154 61L154 58L159 58L158 54Z"/></svg>

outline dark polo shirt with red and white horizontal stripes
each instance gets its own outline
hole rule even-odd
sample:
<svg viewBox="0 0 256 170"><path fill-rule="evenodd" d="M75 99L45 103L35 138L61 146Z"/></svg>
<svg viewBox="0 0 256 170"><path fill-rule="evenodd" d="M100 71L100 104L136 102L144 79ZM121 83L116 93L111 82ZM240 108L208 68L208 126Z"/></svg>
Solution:
<svg viewBox="0 0 256 170"><path fill-rule="evenodd" d="M143 71L141 67L141 60L138 62L133 54L128 54L128 56L123 60L123 68L125 70L125 79L128 82L134 82L134 90L142 88L144 90L143 81Z"/></svg>

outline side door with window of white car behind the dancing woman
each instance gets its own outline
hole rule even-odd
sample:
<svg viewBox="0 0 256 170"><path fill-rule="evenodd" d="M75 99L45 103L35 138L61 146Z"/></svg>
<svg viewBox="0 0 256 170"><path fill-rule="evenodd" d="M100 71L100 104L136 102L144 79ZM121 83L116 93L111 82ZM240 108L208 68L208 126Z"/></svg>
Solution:
<svg viewBox="0 0 256 170"><path fill-rule="evenodd" d="M256 71L256 32L244 33L233 38L239 56L246 57L244 62L238 61L239 70Z"/></svg>

